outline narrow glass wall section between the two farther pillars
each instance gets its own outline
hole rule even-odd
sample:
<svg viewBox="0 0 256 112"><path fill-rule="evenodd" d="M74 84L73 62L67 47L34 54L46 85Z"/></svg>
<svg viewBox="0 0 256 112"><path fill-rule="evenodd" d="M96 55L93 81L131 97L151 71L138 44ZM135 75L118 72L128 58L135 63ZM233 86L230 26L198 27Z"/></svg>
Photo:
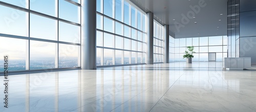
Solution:
<svg viewBox="0 0 256 112"><path fill-rule="evenodd" d="M163 62L163 26L154 20L154 62Z"/></svg>

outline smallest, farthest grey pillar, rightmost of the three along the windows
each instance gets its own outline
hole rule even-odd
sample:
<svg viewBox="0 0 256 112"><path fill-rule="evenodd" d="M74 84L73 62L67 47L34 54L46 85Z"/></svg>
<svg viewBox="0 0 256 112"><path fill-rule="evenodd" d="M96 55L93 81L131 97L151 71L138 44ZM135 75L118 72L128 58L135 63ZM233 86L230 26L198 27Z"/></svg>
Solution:
<svg viewBox="0 0 256 112"><path fill-rule="evenodd" d="M169 25L164 25L164 63L169 63Z"/></svg>

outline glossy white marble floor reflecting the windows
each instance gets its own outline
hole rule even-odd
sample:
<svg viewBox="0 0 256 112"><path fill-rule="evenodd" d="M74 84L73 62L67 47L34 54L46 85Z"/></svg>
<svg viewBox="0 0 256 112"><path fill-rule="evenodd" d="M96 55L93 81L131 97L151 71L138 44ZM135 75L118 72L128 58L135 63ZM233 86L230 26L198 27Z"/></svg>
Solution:
<svg viewBox="0 0 256 112"><path fill-rule="evenodd" d="M256 111L256 70L221 62L10 75L0 111Z"/></svg>

